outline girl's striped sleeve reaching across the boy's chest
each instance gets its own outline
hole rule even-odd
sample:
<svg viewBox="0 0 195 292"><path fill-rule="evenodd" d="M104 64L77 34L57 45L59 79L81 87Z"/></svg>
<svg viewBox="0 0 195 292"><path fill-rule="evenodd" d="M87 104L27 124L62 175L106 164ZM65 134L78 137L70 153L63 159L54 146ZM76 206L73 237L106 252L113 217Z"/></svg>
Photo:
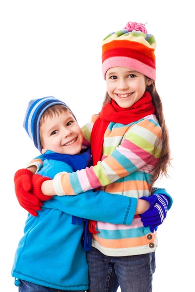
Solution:
<svg viewBox="0 0 195 292"><path fill-rule="evenodd" d="M160 157L161 139L161 128L152 116L141 120L129 128L121 145L96 166L57 175L54 180L57 195L78 195L113 183L143 167L152 170Z"/></svg>

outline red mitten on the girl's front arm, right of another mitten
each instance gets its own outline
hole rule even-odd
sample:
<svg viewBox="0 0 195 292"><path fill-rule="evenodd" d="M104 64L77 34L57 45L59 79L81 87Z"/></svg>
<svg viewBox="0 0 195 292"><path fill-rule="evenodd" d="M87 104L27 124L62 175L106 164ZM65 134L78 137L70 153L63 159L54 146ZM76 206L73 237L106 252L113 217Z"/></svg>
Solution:
<svg viewBox="0 0 195 292"><path fill-rule="evenodd" d="M34 174L32 178L32 189L31 192L39 198L41 201L47 201L52 199L52 196L45 196L41 191L41 184L45 181L51 180L48 177L43 177L39 174Z"/></svg>

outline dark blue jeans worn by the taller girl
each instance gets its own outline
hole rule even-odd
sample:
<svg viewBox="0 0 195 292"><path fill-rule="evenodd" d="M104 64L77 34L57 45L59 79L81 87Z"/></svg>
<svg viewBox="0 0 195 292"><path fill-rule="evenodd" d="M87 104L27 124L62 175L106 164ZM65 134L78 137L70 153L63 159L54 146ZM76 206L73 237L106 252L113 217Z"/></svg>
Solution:
<svg viewBox="0 0 195 292"><path fill-rule="evenodd" d="M87 252L88 292L152 292L155 253L137 256L105 256L96 248Z"/></svg>

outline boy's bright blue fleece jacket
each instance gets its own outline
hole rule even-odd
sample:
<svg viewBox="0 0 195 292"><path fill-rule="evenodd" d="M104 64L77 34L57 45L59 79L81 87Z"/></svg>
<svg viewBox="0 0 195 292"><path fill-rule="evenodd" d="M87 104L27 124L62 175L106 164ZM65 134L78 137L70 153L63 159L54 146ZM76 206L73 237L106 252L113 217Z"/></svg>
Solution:
<svg viewBox="0 0 195 292"><path fill-rule="evenodd" d="M53 179L61 171L73 172L73 168L64 162L46 159L38 173ZM87 290L88 265L81 245L84 223L71 224L72 215L114 224L131 224L136 206L135 198L103 191L54 196L44 202L38 217L28 214L12 276L60 290Z"/></svg>

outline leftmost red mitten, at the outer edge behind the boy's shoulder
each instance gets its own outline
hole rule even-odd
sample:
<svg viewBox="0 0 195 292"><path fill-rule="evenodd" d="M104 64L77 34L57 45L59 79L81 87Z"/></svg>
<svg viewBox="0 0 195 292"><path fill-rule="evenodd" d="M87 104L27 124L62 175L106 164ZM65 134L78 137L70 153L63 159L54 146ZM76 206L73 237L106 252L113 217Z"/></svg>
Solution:
<svg viewBox="0 0 195 292"><path fill-rule="evenodd" d="M31 215L37 216L36 211L41 210L42 201L30 192L32 177L33 173L30 170L26 168L18 170L14 176L15 192L20 206Z"/></svg>

